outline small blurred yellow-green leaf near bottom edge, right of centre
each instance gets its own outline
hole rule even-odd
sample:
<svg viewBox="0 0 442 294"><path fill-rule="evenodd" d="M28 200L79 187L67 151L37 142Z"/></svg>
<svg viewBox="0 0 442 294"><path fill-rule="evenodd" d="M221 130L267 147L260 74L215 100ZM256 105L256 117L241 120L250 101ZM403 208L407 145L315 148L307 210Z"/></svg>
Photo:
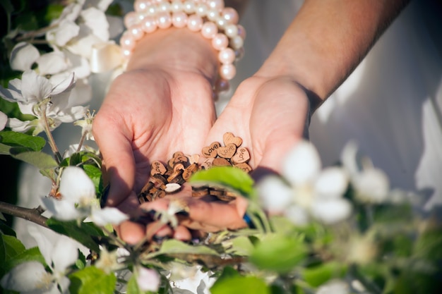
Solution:
<svg viewBox="0 0 442 294"><path fill-rule="evenodd" d="M346 271L347 267L345 264L328 262L304 269L302 276L310 286L318 287L332 278L342 278Z"/></svg>

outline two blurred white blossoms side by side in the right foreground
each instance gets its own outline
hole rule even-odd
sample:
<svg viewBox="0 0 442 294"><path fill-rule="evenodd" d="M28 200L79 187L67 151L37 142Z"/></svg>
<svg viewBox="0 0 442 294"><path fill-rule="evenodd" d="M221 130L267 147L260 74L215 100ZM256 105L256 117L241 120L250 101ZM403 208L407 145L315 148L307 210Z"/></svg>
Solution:
<svg viewBox="0 0 442 294"><path fill-rule="evenodd" d="M305 140L287 155L282 177L268 176L258 183L263 207L283 214L297 225L311 219L332 224L347 219L352 205L345 192L352 185L362 202L379 203L389 192L388 178L365 160L359 168L357 146L350 142L342 151L342 166L322 169L316 148Z"/></svg>

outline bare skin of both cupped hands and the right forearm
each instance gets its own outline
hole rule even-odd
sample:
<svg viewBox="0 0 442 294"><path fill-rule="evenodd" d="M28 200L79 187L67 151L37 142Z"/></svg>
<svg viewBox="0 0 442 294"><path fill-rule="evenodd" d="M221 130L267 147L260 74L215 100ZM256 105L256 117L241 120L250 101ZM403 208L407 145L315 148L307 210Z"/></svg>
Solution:
<svg viewBox="0 0 442 294"><path fill-rule="evenodd" d="M286 152L307 135L313 111L350 75L406 2L306 0L273 53L239 85L216 121L211 83L217 59L210 43L199 33L174 28L143 37L93 125L112 183L107 204L140 212L133 191L148 178L150 161L167 161L177 151L199 154L211 142L222 142L225 132L243 139L253 169L279 172ZM246 200L198 201L186 191L174 197L188 202L190 219L175 230L151 223L146 231L128 221L117 228L121 238L136 243L157 234L189 240L189 230L245 226ZM165 209L170 198L142 207Z"/></svg>

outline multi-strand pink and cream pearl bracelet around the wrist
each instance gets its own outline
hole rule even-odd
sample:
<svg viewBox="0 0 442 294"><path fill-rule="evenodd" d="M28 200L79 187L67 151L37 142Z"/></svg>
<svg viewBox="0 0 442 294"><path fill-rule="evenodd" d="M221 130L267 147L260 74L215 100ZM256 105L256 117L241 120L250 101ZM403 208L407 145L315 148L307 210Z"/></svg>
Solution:
<svg viewBox="0 0 442 294"><path fill-rule="evenodd" d="M220 72L215 91L228 90L229 80L237 73L234 62L244 55L246 31L238 24L237 11L225 7L223 0L136 0L135 11L124 16L127 30L121 35L120 47L126 61L132 54L136 42L144 34L157 29L187 27L192 32L201 32L211 39L218 51Z"/></svg>

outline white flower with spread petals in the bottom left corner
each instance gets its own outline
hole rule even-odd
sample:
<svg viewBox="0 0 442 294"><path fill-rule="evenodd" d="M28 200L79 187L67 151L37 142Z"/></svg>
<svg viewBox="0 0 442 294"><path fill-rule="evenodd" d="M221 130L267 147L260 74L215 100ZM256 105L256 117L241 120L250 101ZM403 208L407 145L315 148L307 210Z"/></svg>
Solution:
<svg viewBox="0 0 442 294"><path fill-rule="evenodd" d="M23 262L1 278L1 286L25 294L60 293L59 288L66 293L70 283L66 270L78 258L78 245L64 235L52 244L34 226L29 227L29 233L37 241L49 271L40 262Z"/></svg>

